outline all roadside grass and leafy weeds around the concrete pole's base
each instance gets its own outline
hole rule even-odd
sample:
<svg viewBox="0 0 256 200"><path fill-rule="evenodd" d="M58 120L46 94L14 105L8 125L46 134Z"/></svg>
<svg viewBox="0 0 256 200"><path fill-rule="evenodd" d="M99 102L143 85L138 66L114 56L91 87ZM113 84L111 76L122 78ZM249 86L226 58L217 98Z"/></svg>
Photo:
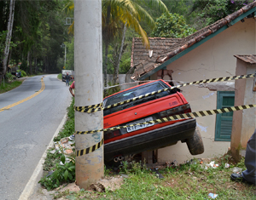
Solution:
<svg viewBox="0 0 256 200"><path fill-rule="evenodd" d="M74 133L73 103L67 108L67 123L61 129L55 141ZM256 186L230 180L234 169L245 170L244 157L236 163L229 152L212 159L193 159L186 163L172 163L159 169L164 178L141 162L124 162L118 170L105 167L105 178L122 175L124 184L120 189L103 192L84 190L60 191L68 183L75 181L75 159L61 152L49 149L44 162L44 177L40 180L43 187L54 190L54 199L207 199L210 193L217 194L216 199L255 199ZM216 164L212 168L210 163ZM60 163L63 163L61 165ZM227 166L227 163L229 166ZM49 173L50 172L50 173Z"/></svg>

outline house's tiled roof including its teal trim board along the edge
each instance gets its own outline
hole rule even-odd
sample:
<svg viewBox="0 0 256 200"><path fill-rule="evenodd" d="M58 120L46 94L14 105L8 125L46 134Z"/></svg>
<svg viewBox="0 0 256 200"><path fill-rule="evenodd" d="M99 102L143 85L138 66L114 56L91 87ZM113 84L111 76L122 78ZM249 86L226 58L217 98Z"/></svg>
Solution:
<svg viewBox="0 0 256 200"><path fill-rule="evenodd" d="M209 38L216 36L236 22L256 12L256 2L237 10L235 13L216 21L210 26L184 38L149 37L150 49L153 50L152 57L149 57L148 49L143 46L142 38L135 37L131 48L131 68L134 70L131 79L143 80L156 71L163 69L172 61L177 60L183 54L195 49Z"/></svg>

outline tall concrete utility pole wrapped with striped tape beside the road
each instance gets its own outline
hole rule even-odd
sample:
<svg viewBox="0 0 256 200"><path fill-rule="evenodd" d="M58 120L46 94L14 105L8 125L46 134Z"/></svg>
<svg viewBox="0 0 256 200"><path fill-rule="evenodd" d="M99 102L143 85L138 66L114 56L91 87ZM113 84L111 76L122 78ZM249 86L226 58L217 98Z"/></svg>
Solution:
<svg viewBox="0 0 256 200"><path fill-rule="evenodd" d="M102 102L102 0L74 1L74 69L75 106L90 106ZM102 111L75 111L75 130L103 128ZM76 134L76 151L96 145L103 138L96 134ZM80 188L104 175L103 146L76 157L76 180Z"/></svg>

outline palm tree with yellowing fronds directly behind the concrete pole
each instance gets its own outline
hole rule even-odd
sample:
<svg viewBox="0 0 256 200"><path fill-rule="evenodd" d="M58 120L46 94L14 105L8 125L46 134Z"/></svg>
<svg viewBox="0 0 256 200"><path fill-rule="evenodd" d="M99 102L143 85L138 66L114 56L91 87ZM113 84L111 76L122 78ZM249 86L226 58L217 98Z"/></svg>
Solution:
<svg viewBox="0 0 256 200"><path fill-rule="evenodd" d="M148 4L154 8L161 9L168 12L166 5L161 0L102 0L102 37L105 47L105 65L104 71L104 86L107 86L107 68L108 68L108 46L113 38L120 34L120 23L131 27L133 30L143 37L143 43L147 49L149 49L149 42L147 33L140 25L140 21L144 20L147 25L154 28L154 20L148 14L147 10L143 9L141 5ZM69 0L65 7L67 11L73 10L73 0ZM69 31L73 31L73 25L70 26ZM123 37L125 31L123 31ZM122 40L124 43L124 39ZM122 51L122 45L120 51ZM116 71L116 70L115 70Z"/></svg>

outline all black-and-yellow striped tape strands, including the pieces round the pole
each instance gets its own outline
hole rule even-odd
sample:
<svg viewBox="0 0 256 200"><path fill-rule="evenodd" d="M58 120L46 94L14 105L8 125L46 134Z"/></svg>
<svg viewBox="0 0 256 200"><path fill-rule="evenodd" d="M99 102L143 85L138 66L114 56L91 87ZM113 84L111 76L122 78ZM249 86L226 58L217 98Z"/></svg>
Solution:
<svg viewBox="0 0 256 200"><path fill-rule="evenodd" d="M148 97L149 95L159 94L159 93L167 91L169 89L181 88L181 87L184 87L184 86L187 86L187 85L193 85L193 84L224 82L224 81L230 81L230 80L248 78L248 77L256 77L256 73L241 75L241 76L235 76L235 77L218 77L218 78L212 78L212 79L205 79L205 80L201 80L201 81L195 81L195 82L191 82L191 83L184 83L184 84L181 84L181 85L173 86L171 88L160 89L160 90L154 91L152 93L143 94L143 95L134 97L130 100L120 101L119 103L109 105L107 107L103 107L102 103L100 103L100 104L91 105L91 106L74 106L74 108L75 108L75 111L88 112L88 113L96 112L96 111L102 111L102 110L108 110L109 108L119 106L119 105L123 105L123 104L129 103L129 102L134 101L134 100L140 100L140 99L143 99L144 97ZM75 134L94 134L94 133L97 133L97 132L108 131L108 130L112 131L112 130L123 129L123 128L127 128L127 127L137 126L137 125L141 125L141 124L166 123L166 122L169 122L169 121L175 121L175 120L186 119L186 118L205 117L205 116L209 116L209 115L221 114L221 113L230 112L230 111L241 111L241 110L248 109L248 108L253 108L253 107L256 107L256 105L231 106L231 107L216 109L216 110L194 111L194 112L184 113L184 114L180 114L180 115L174 115L174 116L171 116L171 117L163 117L163 118L156 119L156 120L151 120L151 121L148 121L148 122L145 122L145 123L136 123L136 124L126 125L126 126L112 127L112 128L108 128L108 129L76 131ZM79 157L79 156L83 156L85 154L89 154L90 152L96 151L97 149L99 149L103 145L103 142L104 142L104 139L102 139L100 142L98 142L94 146L90 146L86 149L76 151L76 156Z"/></svg>

